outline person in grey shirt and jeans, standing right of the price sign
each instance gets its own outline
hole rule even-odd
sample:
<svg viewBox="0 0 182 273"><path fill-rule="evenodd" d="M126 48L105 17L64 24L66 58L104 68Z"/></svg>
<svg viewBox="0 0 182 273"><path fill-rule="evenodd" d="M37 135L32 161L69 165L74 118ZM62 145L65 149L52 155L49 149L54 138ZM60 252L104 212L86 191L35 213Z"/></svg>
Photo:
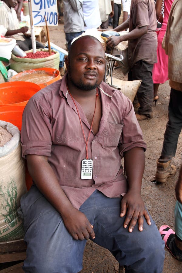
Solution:
<svg viewBox="0 0 182 273"><path fill-rule="evenodd" d="M83 1L82 0L63 0L64 4L64 32L68 50L74 38L83 33Z"/></svg>

